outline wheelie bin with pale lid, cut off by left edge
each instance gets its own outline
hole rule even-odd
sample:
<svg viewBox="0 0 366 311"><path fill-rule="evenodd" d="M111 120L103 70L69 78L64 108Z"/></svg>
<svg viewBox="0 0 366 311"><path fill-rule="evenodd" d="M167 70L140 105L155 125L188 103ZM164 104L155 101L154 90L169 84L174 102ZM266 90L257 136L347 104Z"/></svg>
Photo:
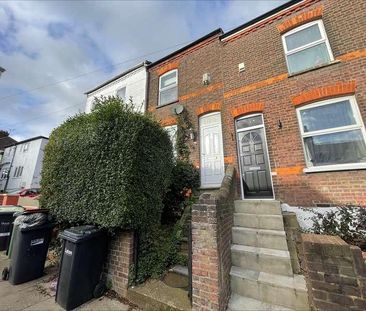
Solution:
<svg viewBox="0 0 366 311"><path fill-rule="evenodd" d="M0 251L8 249L13 229L14 214L22 212L20 206L0 206Z"/></svg>

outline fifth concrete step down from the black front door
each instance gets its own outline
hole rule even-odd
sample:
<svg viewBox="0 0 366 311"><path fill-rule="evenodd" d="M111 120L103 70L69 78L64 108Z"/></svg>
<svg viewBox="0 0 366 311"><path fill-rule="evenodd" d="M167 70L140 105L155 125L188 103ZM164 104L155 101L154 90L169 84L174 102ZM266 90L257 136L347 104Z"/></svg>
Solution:
<svg viewBox="0 0 366 311"><path fill-rule="evenodd" d="M295 310L309 310L305 279L231 267L232 293Z"/></svg>

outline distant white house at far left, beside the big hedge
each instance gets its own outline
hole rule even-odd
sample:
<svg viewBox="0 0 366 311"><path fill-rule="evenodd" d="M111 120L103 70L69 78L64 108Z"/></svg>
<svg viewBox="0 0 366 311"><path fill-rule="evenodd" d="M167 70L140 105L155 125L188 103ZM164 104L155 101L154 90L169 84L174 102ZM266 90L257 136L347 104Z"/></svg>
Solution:
<svg viewBox="0 0 366 311"><path fill-rule="evenodd" d="M40 188L44 149L48 138L37 136L5 148L0 164L0 191Z"/></svg>

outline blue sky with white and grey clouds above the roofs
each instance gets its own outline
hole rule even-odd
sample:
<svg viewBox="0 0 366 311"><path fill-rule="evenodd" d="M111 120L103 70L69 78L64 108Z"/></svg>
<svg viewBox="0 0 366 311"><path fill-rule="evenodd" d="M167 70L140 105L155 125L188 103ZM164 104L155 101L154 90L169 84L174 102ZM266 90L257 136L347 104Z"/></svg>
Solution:
<svg viewBox="0 0 366 311"><path fill-rule="evenodd" d="M1 1L0 129L49 136L101 82L286 1Z"/></svg>

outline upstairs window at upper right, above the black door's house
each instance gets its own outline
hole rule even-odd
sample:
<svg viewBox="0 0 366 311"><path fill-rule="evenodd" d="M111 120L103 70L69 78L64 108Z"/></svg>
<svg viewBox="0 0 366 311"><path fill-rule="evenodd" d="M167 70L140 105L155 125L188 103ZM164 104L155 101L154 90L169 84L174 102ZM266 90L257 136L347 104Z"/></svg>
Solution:
<svg viewBox="0 0 366 311"><path fill-rule="evenodd" d="M332 62L327 34L322 20L297 27L282 36L290 74Z"/></svg>

